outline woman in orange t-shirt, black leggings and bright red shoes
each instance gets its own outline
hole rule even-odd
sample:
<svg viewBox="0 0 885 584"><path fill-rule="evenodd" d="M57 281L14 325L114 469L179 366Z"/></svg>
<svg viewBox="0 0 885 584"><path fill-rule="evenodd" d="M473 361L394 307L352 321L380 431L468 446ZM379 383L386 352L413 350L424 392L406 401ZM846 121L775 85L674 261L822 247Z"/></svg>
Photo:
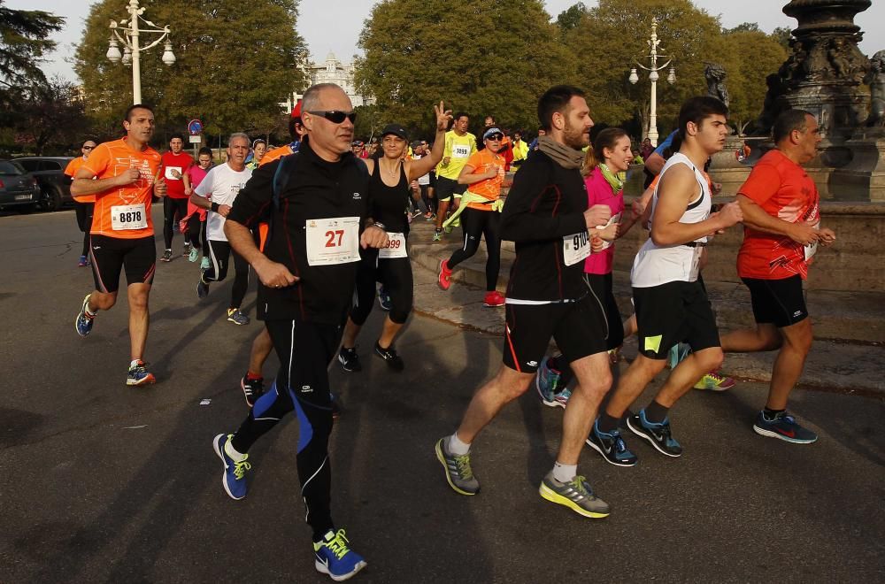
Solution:
<svg viewBox="0 0 885 584"><path fill-rule="evenodd" d="M439 285L443 290L451 286L451 273L461 262L473 257L480 247L480 238L486 240L486 296L482 304L488 307L504 306L504 296L497 291L498 273L501 271L501 187L509 186L504 180L504 157L498 154L501 130L490 127L482 134L484 148L467 159L459 184L469 185L461 199L458 211L443 223L443 227L458 225L464 230L464 247L455 250L449 259L440 262Z"/></svg>

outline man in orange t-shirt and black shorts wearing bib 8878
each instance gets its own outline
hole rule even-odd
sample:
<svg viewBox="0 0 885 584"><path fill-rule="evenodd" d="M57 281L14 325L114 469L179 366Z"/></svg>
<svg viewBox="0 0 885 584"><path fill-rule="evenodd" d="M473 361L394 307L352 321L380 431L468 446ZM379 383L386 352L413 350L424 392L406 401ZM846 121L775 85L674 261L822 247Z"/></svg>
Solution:
<svg viewBox="0 0 885 584"><path fill-rule="evenodd" d="M153 195L165 196L166 186L160 155L148 146L154 134L153 111L146 105L131 106L123 127L126 136L99 144L71 184L73 196L96 196L90 250L96 289L83 299L75 324L81 336L92 332L98 311L117 302L119 274L125 268L132 359L126 382L141 386L156 380L142 356L157 261L150 202Z"/></svg>

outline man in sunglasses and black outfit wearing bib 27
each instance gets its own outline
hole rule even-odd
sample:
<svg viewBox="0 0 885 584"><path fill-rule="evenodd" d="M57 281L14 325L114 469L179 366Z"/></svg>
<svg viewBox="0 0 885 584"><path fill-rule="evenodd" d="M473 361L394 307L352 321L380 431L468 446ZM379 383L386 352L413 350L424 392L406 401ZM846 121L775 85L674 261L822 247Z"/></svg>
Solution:
<svg viewBox="0 0 885 584"><path fill-rule="evenodd" d="M304 138L297 156L258 168L237 196L225 233L255 268L258 318L273 339L281 368L271 388L235 434L212 441L223 462L228 496L246 496L246 454L289 412L298 417L296 464L306 519L313 530L316 569L346 580L366 566L332 521L327 445L332 428L327 367L335 359L353 296L359 248L382 248L381 227L366 226L366 166L350 154L356 114L342 88L324 83L304 92ZM277 171L280 173L277 173ZM272 210L266 255L250 227ZM365 229L364 229L365 227ZM279 498L279 497L277 497ZM274 499L276 501L276 499Z"/></svg>

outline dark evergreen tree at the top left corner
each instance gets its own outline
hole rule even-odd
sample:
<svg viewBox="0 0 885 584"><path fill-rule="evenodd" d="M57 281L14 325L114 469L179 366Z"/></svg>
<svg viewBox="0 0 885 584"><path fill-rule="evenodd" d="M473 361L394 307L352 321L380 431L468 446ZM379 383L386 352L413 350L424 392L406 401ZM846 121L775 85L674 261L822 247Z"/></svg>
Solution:
<svg viewBox="0 0 885 584"><path fill-rule="evenodd" d="M43 11L12 10L0 0L0 125L9 127L19 110L46 83L43 55L55 49L49 36L65 19Z"/></svg>

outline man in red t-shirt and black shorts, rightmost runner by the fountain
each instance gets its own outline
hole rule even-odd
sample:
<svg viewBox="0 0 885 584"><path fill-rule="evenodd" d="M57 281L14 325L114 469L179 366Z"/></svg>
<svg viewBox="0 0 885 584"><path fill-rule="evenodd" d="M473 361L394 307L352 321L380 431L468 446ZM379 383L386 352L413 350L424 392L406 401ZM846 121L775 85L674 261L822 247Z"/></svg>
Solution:
<svg viewBox="0 0 885 584"><path fill-rule="evenodd" d="M835 233L820 227L820 195L801 166L817 156L817 119L803 110L784 111L773 133L777 148L758 161L737 196L744 224L737 273L750 288L756 328L726 334L721 343L727 352L780 349L768 402L753 430L807 444L816 441L817 434L787 413L789 393L812 347L802 280L818 246L835 242Z"/></svg>

